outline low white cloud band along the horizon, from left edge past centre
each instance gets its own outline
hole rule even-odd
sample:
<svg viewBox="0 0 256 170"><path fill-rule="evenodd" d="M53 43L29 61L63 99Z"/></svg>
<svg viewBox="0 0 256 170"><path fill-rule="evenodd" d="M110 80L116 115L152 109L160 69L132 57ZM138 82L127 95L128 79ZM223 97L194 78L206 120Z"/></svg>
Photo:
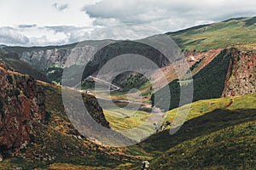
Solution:
<svg viewBox="0 0 256 170"><path fill-rule="evenodd" d="M18 26L0 28L0 44L20 46L60 45L84 40L138 39L160 34L145 25L115 26Z"/></svg>

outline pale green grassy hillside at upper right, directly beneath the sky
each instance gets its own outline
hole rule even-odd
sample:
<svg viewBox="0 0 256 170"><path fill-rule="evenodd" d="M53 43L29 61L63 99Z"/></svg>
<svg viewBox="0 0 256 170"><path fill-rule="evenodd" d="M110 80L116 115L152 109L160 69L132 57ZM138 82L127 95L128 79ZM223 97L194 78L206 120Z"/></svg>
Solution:
<svg viewBox="0 0 256 170"><path fill-rule="evenodd" d="M186 50L207 51L256 42L256 17L228 20L206 26L196 26L185 31L167 33Z"/></svg>

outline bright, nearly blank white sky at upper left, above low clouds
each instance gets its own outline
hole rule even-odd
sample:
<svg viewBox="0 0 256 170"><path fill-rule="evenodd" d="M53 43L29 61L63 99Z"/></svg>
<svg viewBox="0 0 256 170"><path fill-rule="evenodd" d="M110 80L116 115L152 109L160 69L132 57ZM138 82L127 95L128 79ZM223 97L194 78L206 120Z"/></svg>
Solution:
<svg viewBox="0 0 256 170"><path fill-rule="evenodd" d="M92 19L81 8L96 1L98 0L2 0L0 26L91 26Z"/></svg>

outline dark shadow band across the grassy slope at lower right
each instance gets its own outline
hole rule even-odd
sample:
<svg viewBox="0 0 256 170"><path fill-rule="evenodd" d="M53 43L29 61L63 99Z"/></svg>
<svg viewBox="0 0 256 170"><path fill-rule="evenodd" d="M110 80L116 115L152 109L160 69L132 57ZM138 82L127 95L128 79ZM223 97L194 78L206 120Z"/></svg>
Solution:
<svg viewBox="0 0 256 170"><path fill-rule="evenodd" d="M166 151L185 140L216 132L225 127L256 120L256 109L215 110L185 122L177 133L170 135L169 129L156 133L138 144L147 152Z"/></svg>

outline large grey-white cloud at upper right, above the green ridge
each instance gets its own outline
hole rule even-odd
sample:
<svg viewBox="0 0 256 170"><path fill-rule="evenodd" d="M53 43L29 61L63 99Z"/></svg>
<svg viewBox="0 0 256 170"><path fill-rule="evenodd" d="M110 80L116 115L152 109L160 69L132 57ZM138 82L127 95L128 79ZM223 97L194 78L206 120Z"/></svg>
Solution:
<svg viewBox="0 0 256 170"><path fill-rule="evenodd" d="M197 24L256 15L256 1L239 0L102 0L83 8L94 25L139 23L163 31L177 31Z"/></svg>

